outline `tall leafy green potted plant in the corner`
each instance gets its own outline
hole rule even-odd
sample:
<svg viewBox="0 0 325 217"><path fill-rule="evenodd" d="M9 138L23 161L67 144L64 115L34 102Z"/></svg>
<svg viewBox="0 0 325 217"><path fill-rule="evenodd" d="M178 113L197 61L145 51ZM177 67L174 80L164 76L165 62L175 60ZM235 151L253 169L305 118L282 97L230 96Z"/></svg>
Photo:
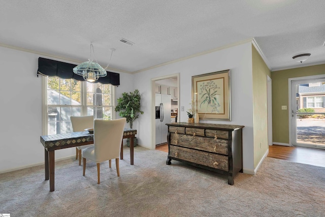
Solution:
<svg viewBox="0 0 325 217"><path fill-rule="evenodd" d="M133 121L139 117L139 114L143 114L143 111L140 110L140 100L138 89L134 92L123 92L122 97L117 99L115 111L119 112L119 116L126 118L131 129L133 129ZM129 146L129 139L127 139L127 146ZM134 138L134 146L137 146L137 137Z"/></svg>

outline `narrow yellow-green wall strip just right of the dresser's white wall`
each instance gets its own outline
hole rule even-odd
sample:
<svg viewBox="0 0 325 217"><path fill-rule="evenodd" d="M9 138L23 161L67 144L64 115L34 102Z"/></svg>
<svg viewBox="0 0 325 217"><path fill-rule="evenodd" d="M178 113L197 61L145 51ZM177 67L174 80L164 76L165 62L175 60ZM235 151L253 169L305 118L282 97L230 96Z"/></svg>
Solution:
<svg viewBox="0 0 325 217"><path fill-rule="evenodd" d="M267 75L271 71L252 45L254 168L264 157L268 145Z"/></svg>

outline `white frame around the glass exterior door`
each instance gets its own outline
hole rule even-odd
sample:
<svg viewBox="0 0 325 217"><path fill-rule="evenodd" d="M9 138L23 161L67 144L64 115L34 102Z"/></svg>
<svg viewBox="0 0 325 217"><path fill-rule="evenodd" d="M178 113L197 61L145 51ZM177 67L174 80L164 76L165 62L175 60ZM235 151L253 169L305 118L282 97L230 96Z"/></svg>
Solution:
<svg viewBox="0 0 325 217"><path fill-rule="evenodd" d="M294 81L299 81L299 80L305 80L306 82L308 82L308 80L315 80L315 79L320 79L320 78L324 78L325 75L312 75L312 76L305 76L305 77L297 77L297 78L289 78L288 79L288 90L289 90L289 96L288 96L288 116L289 116L289 146L293 146L293 123L292 123L292 109L293 109L293 105L292 105L292 96L291 96L291 92L292 91L292 82Z"/></svg>

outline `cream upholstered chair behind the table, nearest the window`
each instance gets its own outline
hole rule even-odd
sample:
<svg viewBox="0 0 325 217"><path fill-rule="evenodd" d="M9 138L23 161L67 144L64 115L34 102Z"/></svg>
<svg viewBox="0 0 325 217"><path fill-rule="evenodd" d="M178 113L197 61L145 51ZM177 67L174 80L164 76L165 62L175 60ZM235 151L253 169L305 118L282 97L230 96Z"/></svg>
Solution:
<svg viewBox="0 0 325 217"><path fill-rule="evenodd" d="M93 128L93 115L71 116L70 120L71 120L73 132L80 132L80 131L84 131L85 129ZM78 159L79 156L79 165L81 165L81 150L91 146L93 146L93 144L76 147L76 160Z"/></svg>

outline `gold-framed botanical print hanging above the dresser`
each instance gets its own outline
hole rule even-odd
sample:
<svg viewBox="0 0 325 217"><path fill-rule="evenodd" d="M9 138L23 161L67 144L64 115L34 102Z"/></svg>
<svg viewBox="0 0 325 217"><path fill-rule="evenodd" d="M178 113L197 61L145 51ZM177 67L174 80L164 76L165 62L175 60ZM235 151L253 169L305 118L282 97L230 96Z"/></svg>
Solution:
<svg viewBox="0 0 325 217"><path fill-rule="evenodd" d="M200 119L230 121L230 70L192 76L192 100Z"/></svg>

